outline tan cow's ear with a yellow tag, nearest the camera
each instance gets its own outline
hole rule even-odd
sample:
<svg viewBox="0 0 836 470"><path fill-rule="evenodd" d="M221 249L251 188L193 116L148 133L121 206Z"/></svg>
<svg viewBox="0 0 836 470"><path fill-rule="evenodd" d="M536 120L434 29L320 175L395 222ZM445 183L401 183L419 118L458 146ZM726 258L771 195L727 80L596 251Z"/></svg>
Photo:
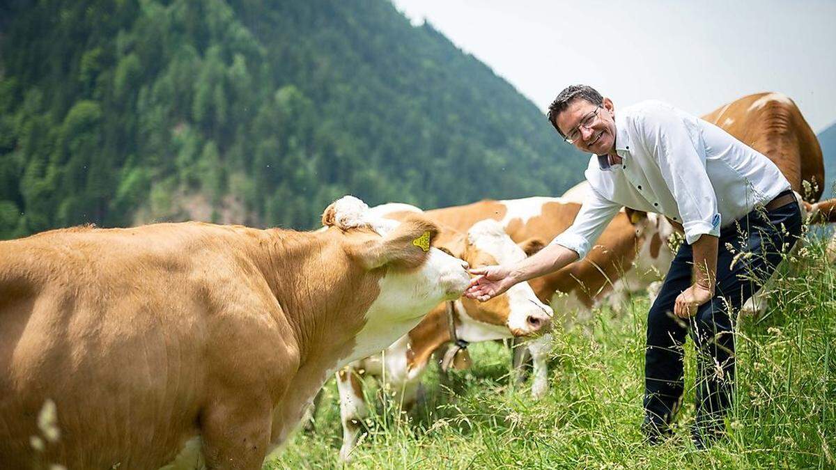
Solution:
<svg viewBox="0 0 836 470"><path fill-rule="evenodd" d="M438 226L423 214L407 217L384 238L371 238L350 248L350 254L366 269L383 266L417 268L430 255Z"/></svg>

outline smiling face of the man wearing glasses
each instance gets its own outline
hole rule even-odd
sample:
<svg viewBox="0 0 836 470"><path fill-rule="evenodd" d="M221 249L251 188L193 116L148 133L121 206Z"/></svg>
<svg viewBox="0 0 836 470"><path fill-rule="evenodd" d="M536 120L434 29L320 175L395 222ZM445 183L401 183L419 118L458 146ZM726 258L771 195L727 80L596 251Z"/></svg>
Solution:
<svg viewBox="0 0 836 470"><path fill-rule="evenodd" d="M558 128L566 136L577 132L572 145L581 151L604 155L615 148L614 115L615 107L609 98L604 98L600 108L587 100L574 100L558 115ZM584 120L589 121L589 126L579 125Z"/></svg>

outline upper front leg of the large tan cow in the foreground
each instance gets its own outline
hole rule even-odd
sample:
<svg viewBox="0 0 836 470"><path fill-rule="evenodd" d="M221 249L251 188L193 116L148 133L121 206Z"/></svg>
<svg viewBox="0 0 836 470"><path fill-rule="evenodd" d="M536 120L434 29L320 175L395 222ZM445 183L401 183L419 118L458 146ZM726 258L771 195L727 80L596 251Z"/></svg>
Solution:
<svg viewBox="0 0 836 470"><path fill-rule="evenodd" d="M212 403L201 414L206 467L261 468L270 443L270 401L229 393Z"/></svg>

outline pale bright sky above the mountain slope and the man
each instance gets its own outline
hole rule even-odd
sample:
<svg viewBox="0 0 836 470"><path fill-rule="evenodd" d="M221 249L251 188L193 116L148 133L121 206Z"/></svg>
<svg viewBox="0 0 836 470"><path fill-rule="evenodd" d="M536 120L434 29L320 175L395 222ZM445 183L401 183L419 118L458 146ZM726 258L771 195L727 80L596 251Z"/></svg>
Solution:
<svg viewBox="0 0 836 470"><path fill-rule="evenodd" d="M761 91L792 98L816 132L836 122L836 0L393 0L541 110L589 84L619 106L704 115Z"/></svg>

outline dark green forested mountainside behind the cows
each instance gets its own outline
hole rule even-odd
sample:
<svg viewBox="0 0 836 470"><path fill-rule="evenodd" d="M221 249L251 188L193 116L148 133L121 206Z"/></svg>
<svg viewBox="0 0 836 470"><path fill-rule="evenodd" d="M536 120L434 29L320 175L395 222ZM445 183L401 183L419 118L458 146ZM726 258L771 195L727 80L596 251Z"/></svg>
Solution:
<svg viewBox="0 0 836 470"><path fill-rule="evenodd" d="M542 111L385 0L17 0L0 18L2 238L308 228L346 193L438 207L583 177Z"/></svg>

